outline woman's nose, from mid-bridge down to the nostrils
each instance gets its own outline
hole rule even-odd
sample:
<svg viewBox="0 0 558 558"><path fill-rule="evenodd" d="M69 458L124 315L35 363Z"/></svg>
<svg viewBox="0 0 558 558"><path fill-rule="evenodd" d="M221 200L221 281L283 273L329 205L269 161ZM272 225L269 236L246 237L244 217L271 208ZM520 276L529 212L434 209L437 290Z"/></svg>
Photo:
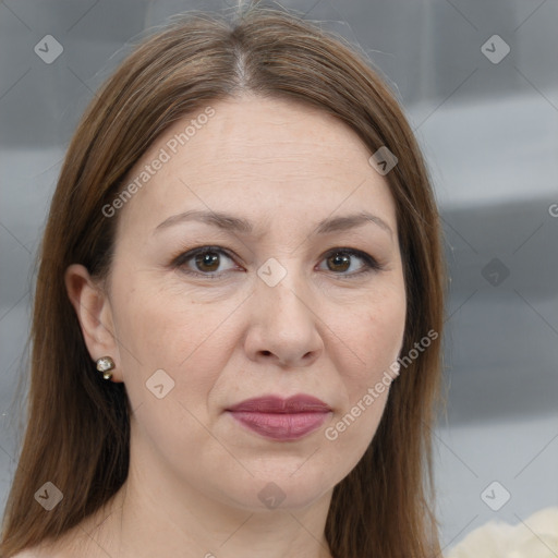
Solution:
<svg viewBox="0 0 558 558"><path fill-rule="evenodd" d="M259 281L250 305L250 325L244 340L250 360L302 367L319 357L324 351L320 319L316 302L307 290L295 288L287 278L275 287Z"/></svg>

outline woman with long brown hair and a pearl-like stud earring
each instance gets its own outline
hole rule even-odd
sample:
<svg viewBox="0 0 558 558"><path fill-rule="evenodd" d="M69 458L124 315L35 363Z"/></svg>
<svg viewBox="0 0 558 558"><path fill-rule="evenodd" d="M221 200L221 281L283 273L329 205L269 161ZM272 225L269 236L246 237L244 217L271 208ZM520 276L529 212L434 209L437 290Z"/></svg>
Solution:
<svg viewBox="0 0 558 558"><path fill-rule="evenodd" d="M440 252L366 60L282 10L177 19L65 157L1 556L438 556Z"/></svg>

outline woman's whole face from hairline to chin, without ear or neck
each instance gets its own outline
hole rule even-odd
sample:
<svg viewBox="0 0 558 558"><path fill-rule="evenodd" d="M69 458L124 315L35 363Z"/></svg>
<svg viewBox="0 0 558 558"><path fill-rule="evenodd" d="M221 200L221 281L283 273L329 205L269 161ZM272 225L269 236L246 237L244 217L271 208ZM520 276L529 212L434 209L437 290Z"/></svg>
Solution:
<svg viewBox="0 0 558 558"><path fill-rule="evenodd" d="M151 145L110 217L131 466L160 494L300 508L355 466L387 401L405 319L395 202L340 121L255 97L211 108ZM295 396L322 407L282 407Z"/></svg>

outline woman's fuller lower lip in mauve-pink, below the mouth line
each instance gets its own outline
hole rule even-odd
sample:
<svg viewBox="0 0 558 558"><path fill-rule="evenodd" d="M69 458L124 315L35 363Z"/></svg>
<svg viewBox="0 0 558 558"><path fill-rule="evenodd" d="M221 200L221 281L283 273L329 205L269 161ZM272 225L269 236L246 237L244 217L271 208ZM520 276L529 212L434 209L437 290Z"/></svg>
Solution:
<svg viewBox="0 0 558 558"><path fill-rule="evenodd" d="M319 428L330 412L258 413L232 411L231 415L243 426L274 440L298 440Z"/></svg>

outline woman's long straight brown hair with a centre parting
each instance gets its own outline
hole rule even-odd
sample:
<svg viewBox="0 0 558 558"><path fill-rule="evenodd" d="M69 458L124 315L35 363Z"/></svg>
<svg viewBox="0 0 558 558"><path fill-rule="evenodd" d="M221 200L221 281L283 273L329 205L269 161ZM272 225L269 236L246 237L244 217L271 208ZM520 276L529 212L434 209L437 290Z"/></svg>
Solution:
<svg viewBox="0 0 558 558"><path fill-rule="evenodd" d="M407 290L402 354L435 331L392 384L364 457L333 489L326 537L337 558L426 558L439 550L432 433L441 371L445 271L428 173L396 96L367 57L284 9L252 4L175 16L140 45L93 99L73 136L50 207L33 315L27 427L4 514L0 555L56 539L106 504L129 468L124 384L96 372L64 286L73 263L106 277L117 218L102 206L172 122L244 93L305 102L350 126L386 174L397 207ZM415 350L416 352L416 350ZM52 482L62 501L34 501Z"/></svg>

